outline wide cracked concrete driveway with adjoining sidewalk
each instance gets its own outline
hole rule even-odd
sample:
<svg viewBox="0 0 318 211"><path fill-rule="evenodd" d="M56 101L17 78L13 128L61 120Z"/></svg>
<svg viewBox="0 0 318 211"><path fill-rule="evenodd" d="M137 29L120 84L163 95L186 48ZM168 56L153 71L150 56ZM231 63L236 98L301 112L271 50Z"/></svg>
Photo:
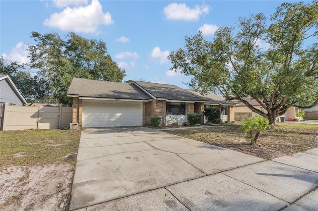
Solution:
<svg viewBox="0 0 318 211"><path fill-rule="evenodd" d="M316 206L318 150L308 156L304 169L145 127L86 129L70 210L279 210L304 196Z"/></svg>

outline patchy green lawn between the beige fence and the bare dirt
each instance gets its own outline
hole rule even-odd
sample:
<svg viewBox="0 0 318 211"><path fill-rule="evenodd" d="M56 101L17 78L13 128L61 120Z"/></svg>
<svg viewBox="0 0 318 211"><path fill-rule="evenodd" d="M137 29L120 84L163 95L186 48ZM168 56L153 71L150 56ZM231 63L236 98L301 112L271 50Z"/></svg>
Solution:
<svg viewBox="0 0 318 211"><path fill-rule="evenodd" d="M76 163L79 130L0 132L0 166Z"/></svg>

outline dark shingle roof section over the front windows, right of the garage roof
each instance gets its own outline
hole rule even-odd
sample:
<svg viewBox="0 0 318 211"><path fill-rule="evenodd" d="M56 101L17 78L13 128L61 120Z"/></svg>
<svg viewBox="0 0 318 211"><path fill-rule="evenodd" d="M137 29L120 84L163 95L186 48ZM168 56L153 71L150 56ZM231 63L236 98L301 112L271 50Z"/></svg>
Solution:
<svg viewBox="0 0 318 211"><path fill-rule="evenodd" d="M152 96L154 99L166 101L187 101L187 102L205 102L208 100L198 96L188 90L169 84L158 84L143 81L133 81L141 90Z"/></svg>

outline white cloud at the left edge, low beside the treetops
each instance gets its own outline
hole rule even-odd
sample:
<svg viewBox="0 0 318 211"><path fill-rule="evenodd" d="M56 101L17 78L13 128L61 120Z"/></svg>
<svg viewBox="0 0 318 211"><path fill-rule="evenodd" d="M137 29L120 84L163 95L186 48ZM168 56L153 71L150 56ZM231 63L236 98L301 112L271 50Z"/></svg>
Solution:
<svg viewBox="0 0 318 211"><path fill-rule="evenodd" d="M8 59L10 61L17 61L18 64L22 63L28 63L30 59L28 56L28 51L26 50L28 47L27 44L24 44L23 42L19 42L16 44L15 48L13 48L9 55L6 53L2 53L1 56L3 58Z"/></svg>

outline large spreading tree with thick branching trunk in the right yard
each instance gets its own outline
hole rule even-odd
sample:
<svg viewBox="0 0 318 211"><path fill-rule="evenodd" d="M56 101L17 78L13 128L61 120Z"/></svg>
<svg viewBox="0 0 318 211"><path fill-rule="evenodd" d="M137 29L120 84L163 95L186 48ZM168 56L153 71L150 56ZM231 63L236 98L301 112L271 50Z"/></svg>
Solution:
<svg viewBox="0 0 318 211"><path fill-rule="evenodd" d="M239 18L239 29L220 27L212 42L199 32L170 53L171 70L193 76L189 85L201 93L221 93L239 100L275 125L290 106L318 105L318 1L283 3L264 14ZM269 44L269 49L259 43ZM310 46L304 46L304 42ZM261 108L250 105L256 100Z"/></svg>

